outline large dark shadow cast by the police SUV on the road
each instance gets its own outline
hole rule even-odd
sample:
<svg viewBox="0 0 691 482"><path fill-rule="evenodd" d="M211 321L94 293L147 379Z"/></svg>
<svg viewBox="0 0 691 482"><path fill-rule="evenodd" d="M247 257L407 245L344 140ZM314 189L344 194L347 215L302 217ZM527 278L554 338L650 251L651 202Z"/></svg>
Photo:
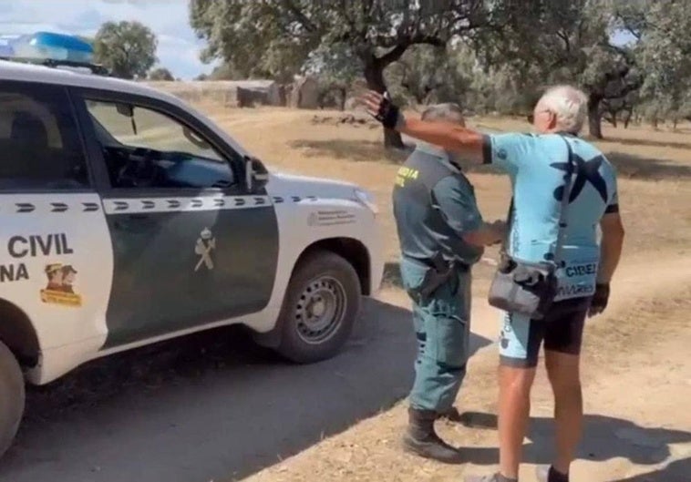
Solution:
<svg viewBox="0 0 691 482"><path fill-rule="evenodd" d="M319 364L286 364L237 327L111 355L29 389L0 480L241 479L405 398L415 351L410 312L367 299Z"/></svg>

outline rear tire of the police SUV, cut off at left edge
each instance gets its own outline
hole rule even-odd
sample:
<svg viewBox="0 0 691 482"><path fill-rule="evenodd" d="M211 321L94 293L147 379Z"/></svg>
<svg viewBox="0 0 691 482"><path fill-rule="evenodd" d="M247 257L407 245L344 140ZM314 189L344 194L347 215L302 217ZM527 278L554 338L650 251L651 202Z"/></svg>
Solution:
<svg viewBox="0 0 691 482"><path fill-rule="evenodd" d="M25 384L22 369L15 355L0 342L0 456L15 440L25 405Z"/></svg>

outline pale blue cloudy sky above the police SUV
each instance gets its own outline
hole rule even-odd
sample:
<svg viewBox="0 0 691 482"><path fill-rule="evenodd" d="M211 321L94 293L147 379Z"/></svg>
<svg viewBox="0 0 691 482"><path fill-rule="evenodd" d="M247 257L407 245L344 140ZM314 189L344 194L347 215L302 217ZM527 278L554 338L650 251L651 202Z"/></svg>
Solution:
<svg viewBox="0 0 691 482"><path fill-rule="evenodd" d="M191 79L211 72L201 63L204 42L191 29L187 0L0 0L0 35L51 31L94 36L109 20L138 20L159 40L159 64Z"/></svg>

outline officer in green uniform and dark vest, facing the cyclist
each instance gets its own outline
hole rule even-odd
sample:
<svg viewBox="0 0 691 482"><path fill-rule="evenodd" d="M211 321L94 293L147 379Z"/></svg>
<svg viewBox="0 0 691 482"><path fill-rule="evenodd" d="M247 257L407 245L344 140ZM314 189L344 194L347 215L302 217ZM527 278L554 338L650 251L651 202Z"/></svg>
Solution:
<svg viewBox="0 0 691 482"><path fill-rule="evenodd" d="M422 118L464 123L456 104L428 108ZM459 451L439 438L434 422L455 412L466 373L471 266L485 245L501 240L505 225L482 220L473 187L453 155L424 143L398 169L393 203L401 277L413 301L418 338L404 446L455 463Z"/></svg>

